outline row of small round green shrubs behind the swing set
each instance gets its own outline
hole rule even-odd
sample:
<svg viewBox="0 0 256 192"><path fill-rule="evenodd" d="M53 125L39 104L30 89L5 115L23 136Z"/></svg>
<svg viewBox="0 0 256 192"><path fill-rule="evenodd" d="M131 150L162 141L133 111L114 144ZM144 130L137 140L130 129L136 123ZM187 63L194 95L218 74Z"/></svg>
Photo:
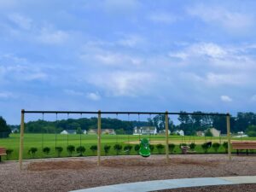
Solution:
<svg viewBox="0 0 256 192"><path fill-rule="evenodd" d="M173 154L174 152L176 152L176 151L174 150L174 149L176 148L176 146L177 146L177 145L175 145L175 144L173 144L173 143L170 143L170 144L169 144L169 153L170 153L170 154ZM179 148L182 148L182 146L189 146L190 150L194 151L194 150L195 150L195 147L196 147L196 144L195 144L195 143L190 143L190 144L181 143L181 144L179 145ZM228 143L227 143L227 142L224 142L224 143L222 144L222 146L224 147L225 152L227 152L227 151L228 151ZM214 151L215 151L216 153L218 153L218 149L219 149L220 147L221 147L221 144L220 144L220 143L211 143L211 145L209 145L209 143L202 143L202 144L201 144L201 148L202 148L202 150L204 151L204 153L207 153L210 148L213 148ZM103 150L104 150L104 154L105 154L105 155L108 155L108 154L109 154L110 148L111 148L111 146L108 145L108 144L106 144L106 145L103 146ZM140 145L136 144L136 145L133 146L133 145L128 144L128 145L122 146L122 145L119 144L119 143L116 143L116 144L113 145L113 150L116 152L117 155L120 154L120 153L122 152L122 150L123 150L123 152L124 152L125 154L131 154L132 148L134 148L134 150L135 150L135 151L137 152L137 154L138 154ZM155 145L155 146L152 145L152 144L150 144L150 145L149 145L149 148L150 148L150 150L151 150L152 152L154 151L154 148L156 148L158 154L163 154L163 149L165 148L165 146L164 146L163 144L157 144L157 145ZM75 152L77 152L77 154L79 154L79 156L83 156L83 155L85 154L85 151L86 151L86 148L85 148L84 146L79 146L79 147L75 148L75 146L73 146L73 145L68 145L66 149L67 149L67 153L68 153L69 156L72 156ZM94 155L96 155L97 145L91 145L91 146L90 146L90 150L91 150L91 152L92 152ZM7 149L7 150L6 150L7 160L9 160L9 158L10 158L11 154L13 153L13 151L14 151L13 149ZM45 155L49 155L50 151L51 151L51 149L50 149L49 147L44 147L44 148L43 148L43 153L44 153ZM61 156L62 151L63 151L63 148L62 148L62 147L56 147L56 148L55 148L55 153L57 154L58 157ZM35 154L36 154L37 152L38 152L38 148L34 148L34 147L32 147L32 148L30 148L30 149L28 150L28 154L31 154L32 158L35 157Z"/></svg>

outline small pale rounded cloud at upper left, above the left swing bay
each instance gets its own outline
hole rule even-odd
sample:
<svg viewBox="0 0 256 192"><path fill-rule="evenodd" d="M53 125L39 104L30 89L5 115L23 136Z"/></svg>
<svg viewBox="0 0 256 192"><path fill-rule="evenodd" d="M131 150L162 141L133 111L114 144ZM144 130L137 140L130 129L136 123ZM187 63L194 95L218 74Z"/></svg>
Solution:
<svg viewBox="0 0 256 192"><path fill-rule="evenodd" d="M44 44L62 44L67 41L69 34L61 30L55 30L51 27L42 28L38 40Z"/></svg>

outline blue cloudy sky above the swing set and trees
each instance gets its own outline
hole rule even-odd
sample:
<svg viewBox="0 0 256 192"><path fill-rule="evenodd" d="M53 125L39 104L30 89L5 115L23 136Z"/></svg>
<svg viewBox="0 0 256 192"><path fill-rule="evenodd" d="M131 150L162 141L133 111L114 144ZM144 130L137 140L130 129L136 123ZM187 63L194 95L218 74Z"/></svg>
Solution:
<svg viewBox="0 0 256 192"><path fill-rule="evenodd" d="M19 124L22 108L256 112L255 9L254 0L0 0L0 115Z"/></svg>

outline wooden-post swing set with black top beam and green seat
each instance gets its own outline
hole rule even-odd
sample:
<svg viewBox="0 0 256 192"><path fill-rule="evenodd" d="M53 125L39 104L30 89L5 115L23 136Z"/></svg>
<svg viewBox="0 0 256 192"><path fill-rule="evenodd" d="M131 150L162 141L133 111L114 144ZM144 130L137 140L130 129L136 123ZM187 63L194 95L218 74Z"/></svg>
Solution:
<svg viewBox="0 0 256 192"><path fill-rule="evenodd" d="M89 112L89 111L26 111L24 109L21 110L21 121L20 121L20 155L19 155L19 163L20 163L20 170L22 169L22 160L23 160L23 143L24 143L24 122L25 122L25 114L26 113L55 113L56 119L57 115L60 113L66 113L67 116L69 114L97 114L97 165L101 165L101 133L102 133L102 114L128 114L128 119L130 119L129 115L130 114L137 114L138 119L140 117L140 114L149 114L151 117L151 114L158 114L158 115L165 115L165 127L166 127L166 162L169 161L169 117L168 115L173 114L173 115L179 115L179 114L199 114L199 115L222 115L226 116L227 120L227 135L228 135L228 154L229 154L229 159L231 160L231 149L230 149L230 114L229 113L168 113L166 112L101 112L100 110L97 112ZM43 118L44 119L44 118ZM56 134L55 134L56 137ZM129 136L128 136L129 140ZM140 148L139 148L139 154L143 157L149 157L151 154L149 144L150 144L150 131L149 131L149 139L146 137L140 138L139 135L139 143L140 143ZM56 141L55 141L56 145Z"/></svg>

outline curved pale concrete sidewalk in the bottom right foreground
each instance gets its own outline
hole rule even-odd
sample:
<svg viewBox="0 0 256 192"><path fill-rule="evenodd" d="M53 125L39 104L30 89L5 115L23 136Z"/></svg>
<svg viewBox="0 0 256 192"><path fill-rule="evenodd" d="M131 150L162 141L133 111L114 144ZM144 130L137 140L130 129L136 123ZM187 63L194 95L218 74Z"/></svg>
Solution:
<svg viewBox="0 0 256 192"><path fill-rule="evenodd" d="M113 184L96 188L73 190L73 192L145 192L162 189L177 189L226 184L256 183L256 176L240 177L196 177L154 180L137 183Z"/></svg>

